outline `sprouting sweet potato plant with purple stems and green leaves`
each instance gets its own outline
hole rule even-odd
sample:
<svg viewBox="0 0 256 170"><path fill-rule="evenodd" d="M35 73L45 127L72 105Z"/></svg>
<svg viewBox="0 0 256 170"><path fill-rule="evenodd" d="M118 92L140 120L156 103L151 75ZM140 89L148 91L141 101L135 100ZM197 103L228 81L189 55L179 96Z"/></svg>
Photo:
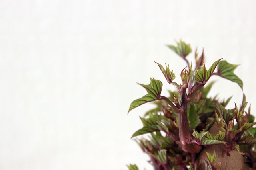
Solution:
<svg viewBox="0 0 256 170"><path fill-rule="evenodd" d="M169 65L156 63L166 81L176 87L169 91L170 96L162 96L162 82L150 78L150 84L139 84L147 94L134 100L128 113L148 102L156 108L140 117L143 127L132 137L149 133L149 139L138 139L143 152L150 157L155 170L219 170L219 169L256 169L256 128L254 116L250 115L246 96L242 104L226 109L231 97L219 101L208 97L214 82L208 83L211 76L220 76L237 83L243 82L234 70L237 65L223 59L216 60L209 68L204 64L204 51L198 56L195 52L195 66L192 68L186 58L192 49L183 41L168 45L186 61L187 66L180 73L181 83ZM207 85L206 85L207 84ZM127 166L137 170L136 165Z"/></svg>

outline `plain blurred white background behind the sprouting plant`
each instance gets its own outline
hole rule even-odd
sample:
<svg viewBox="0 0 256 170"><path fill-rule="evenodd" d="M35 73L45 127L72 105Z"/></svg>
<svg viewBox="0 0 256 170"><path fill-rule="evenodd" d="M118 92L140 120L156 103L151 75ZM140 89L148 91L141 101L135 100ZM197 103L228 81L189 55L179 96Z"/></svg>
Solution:
<svg viewBox="0 0 256 170"><path fill-rule="evenodd" d="M152 170L130 137L154 106L127 111L146 94L136 82L173 89L154 61L180 83L186 63L166 47L180 39L204 48L207 68L240 64L256 115L255 9L254 0L1 0L0 169ZM237 84L212 80L212 96L241 104Z"/></svg>

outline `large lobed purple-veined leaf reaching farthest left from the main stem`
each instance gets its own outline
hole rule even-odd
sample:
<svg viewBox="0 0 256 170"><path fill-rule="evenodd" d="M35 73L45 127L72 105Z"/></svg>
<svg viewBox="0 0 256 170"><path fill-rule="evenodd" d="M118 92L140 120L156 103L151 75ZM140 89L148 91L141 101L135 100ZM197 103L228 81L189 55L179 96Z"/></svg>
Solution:
<svg viewBox="0 0 256 170"><path fill-rule="evenodd" d="M134 109L142 104L161 99L161 91L162 91L162 85L163 85L161 81L155 80L154 78L150 78L150 84L148 84L148 85L139 84L139 85L144 87L146 89L146 91L148 92L148 94L146 94L142 98L134 100L132 102L132 104L130 105L130 109L129 109L128 113L132 109Z"/></svg>

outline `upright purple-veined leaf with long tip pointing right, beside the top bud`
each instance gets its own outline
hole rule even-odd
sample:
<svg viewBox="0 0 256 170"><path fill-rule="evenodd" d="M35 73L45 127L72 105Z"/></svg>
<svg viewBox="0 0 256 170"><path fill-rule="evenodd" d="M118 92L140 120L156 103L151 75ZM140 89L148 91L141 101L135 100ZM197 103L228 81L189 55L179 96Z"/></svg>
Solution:
<svg viewBox="0 0 256 170"><path fill-rule="evenodd" d="M196 69L196 74L195 74L195 79L198 82L201 83L206 83L210 76L212 75L212 73L214 72L215 68L217 67L218 63L220 62L221 59L215 61L212 66L209 68L209 70L206 70L205 64L200 68L200 69Z"/></svg>

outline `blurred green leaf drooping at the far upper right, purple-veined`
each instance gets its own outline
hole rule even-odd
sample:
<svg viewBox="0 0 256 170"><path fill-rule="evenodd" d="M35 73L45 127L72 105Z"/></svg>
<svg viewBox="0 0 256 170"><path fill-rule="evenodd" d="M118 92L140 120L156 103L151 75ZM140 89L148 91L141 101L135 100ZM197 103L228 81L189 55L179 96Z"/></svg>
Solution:
<svg viewBox="0 0 256 170"><path fill-rule="evenodd" d="M234 70L238 65L229 64L227 61L220 61L218 64L218 72L217 74L223 78L231 80L232 82L236 82L243 89L243 82L236 74L234 74Z"/></svg>

